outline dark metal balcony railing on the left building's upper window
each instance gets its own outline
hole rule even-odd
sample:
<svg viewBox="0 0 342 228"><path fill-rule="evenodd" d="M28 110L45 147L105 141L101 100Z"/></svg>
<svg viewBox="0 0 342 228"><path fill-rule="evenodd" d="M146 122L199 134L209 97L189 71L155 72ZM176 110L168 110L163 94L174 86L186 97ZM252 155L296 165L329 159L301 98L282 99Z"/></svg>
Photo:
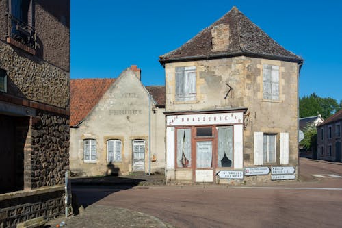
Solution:
<svg viewBox="0 0 342 228"><path fill-rule="evenodd" d="M13 38L36 51L36 31L27 23L23 23L10 13L8 16L8 37Z"/></svg>

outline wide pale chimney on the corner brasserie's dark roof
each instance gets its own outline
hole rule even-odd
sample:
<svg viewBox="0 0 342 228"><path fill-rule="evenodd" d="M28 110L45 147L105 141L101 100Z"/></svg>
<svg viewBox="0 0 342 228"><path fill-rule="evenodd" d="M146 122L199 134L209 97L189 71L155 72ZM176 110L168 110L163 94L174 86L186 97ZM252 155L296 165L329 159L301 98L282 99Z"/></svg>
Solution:
<svg viewBox="0 0 342 228"><path fill-rule="evenodd" d="M215 25L211 29L211 45L213 51L227 51L229 47L229 25Z"/></svg>

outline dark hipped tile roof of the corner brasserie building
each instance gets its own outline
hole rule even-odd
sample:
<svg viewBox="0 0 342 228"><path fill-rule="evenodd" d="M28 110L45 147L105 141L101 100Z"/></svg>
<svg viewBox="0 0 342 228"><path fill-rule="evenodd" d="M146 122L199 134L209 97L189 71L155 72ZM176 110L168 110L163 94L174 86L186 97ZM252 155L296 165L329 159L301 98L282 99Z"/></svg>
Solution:
<svg viewBox="0 0 342 228"><path fill-rule="evenodd" d="M211 29L215 25L228 24L230 29L230 45L226 51L213 51ZM236 7L203 29L194 38L178 49L159 56L159 62L174 62L186 59L200 60L208 58L223 58L229 56L247 55L291 62L303 62L302 58L287 51L270 38L257 25L252 23Z"/></svg>

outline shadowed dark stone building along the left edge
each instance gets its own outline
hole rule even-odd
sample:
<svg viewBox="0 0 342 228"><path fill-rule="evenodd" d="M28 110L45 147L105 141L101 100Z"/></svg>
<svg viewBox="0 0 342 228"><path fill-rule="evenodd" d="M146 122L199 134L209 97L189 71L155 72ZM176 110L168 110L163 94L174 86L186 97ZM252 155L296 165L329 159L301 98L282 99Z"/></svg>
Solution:
<svg viewBox="0 0 342 228"><path fill-rule="evenodd" d="M69 4L0 0L0 227L64 213Z"/></svg>

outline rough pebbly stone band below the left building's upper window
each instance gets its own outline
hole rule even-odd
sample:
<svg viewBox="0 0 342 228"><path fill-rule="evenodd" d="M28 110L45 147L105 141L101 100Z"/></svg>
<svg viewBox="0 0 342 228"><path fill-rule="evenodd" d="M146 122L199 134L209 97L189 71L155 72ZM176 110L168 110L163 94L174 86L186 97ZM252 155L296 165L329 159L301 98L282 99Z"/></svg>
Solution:
<svg viewBox="0 0 342 228"><path fill-rule="evenodd" d="M8 94L65 108L69 104L69 73L30 58L0 41L0 68L8 71Z"/></svg>

